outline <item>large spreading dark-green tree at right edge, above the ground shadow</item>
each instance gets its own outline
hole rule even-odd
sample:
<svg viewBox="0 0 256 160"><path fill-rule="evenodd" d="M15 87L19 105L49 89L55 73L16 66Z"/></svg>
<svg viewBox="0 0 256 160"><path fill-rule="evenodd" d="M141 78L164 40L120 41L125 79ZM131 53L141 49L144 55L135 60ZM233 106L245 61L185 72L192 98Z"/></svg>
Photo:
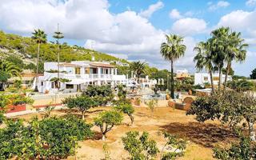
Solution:
<svg viewBox="0 0 256 160"><path fill-rule="evenodd" d="M251 94L232 90L199 97L186 114L195 114L199 122L217 118L231 128L246 120L250 139L255 141L256 98Z"/></svg>

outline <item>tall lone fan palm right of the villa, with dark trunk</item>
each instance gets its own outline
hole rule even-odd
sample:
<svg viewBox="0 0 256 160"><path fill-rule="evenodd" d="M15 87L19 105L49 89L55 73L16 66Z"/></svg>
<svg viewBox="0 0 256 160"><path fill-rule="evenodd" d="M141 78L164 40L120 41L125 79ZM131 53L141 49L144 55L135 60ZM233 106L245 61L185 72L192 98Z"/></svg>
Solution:
<svg viewBox="0 0 256 160"><path fill-rule="evenodd" d="M181 58L186 51L186 46L182 44L183 38L175 34L166 34L166 42L161 44L160 53L167 61L170 61L170 94L174 98L174 61Z"/></svg>

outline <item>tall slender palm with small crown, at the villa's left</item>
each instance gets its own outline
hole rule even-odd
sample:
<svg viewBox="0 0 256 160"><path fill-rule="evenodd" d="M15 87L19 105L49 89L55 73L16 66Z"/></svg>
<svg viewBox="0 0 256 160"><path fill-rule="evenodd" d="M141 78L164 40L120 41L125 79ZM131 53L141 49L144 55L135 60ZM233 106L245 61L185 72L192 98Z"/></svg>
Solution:
<svg viewBox="0 0 256 160"><path fill-rule="evenodd" d="M34 33L32 34L33 36L31 38L38 43L37 73L36 73L35 87L34 87L34 91L38 92L38 61L39 61L39 53L40 53L40 44L47 42L47 38L46 38L47 35L43 30L40 30L40 29L34 30Z"/></svg>

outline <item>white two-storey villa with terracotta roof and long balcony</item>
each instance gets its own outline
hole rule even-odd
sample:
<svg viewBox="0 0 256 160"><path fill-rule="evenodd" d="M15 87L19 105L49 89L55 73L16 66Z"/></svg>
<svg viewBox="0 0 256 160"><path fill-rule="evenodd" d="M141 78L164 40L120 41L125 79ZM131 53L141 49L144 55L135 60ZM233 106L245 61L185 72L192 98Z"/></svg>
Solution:
<svg viewBox="0 0 256 160"><path fill-rule="evenodd" d="M57 82L51 81L58 78L58 62L45 62L44 74L38 77L38 91L41 93L58 92ZM89 84L102 85L126 84L126 75L118 75L117 68L107 62L61 62L59 64L59 78L68 79L70 82L60 82L59 91L63 93L83 90Z"/></svg>

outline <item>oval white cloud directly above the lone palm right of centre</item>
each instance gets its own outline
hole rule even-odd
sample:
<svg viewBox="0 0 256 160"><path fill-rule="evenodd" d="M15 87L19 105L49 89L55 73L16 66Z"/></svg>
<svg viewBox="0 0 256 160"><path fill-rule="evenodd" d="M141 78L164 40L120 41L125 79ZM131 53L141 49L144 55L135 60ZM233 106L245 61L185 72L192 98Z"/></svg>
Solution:
<svg viewBox="0 0 256 160"><path fill-rule="evenodd" d="M206 31L207 24L203 19L198 18L182 18L174 22L171 30L175 34L194 35Z"/></svg>

